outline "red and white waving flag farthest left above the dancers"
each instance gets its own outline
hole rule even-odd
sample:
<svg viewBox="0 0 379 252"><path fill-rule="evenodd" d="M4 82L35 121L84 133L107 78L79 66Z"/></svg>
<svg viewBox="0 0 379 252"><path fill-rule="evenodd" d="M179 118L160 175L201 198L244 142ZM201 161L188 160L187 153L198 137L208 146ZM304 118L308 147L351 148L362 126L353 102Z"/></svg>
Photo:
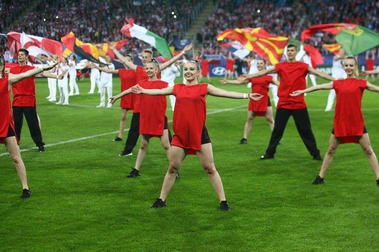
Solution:
<svg viewBox="0 0 379 252"><path fill-rule="evenodd" d="M25 34L25 33L23 32L23 34ZM21 35L22 35L21 33L15 32L15 31L7 33L8 48L9 48L9 51L11 52L11 55L14 57L14 59L17 59L18 49L22 47L21 46ZM34 35L25 34L24 38L26 38L25 36L27 36L28 39L32 40L34 42L35 46L40 47L43 50L45 50L46 52L48 52L45 54L47 54L47 55L57 54L59 56L62 56L62 53L63 53L62 43L55 41L55 40L52 40L52 39L34 36Z"/></svg>

